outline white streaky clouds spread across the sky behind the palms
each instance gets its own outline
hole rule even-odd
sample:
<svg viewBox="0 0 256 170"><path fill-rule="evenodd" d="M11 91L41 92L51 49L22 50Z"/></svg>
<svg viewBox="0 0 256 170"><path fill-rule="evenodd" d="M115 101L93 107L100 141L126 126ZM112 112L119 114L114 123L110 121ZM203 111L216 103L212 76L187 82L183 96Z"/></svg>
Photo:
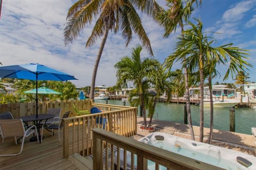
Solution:
<svg viewBox="0 0 256 170"><path fill-rule="evenodd" d="M44 64L75 75L79 80L72 82L77 86L90 86L95 58L102 37L92 47L85 48L87 38L95 24L93 21L91 25L87 25L82 30L73 43L65 46L63 29L65 28L67 11L74 2L73 0L3 1L0 19L0 62L4 65ZM165 4L165 1L158 2L162 5ZM255 0L246 2L255 2ZM231 20L233 16L245 16L248 9L246 2L242 1L234 8L230 8L223 15L223 20L219 24L210 25L205 31L222 32L222 35L217 35L219 39L226 40L226 38L235 37L239 42L239 35L242 34L242 30L239 29L238 23L228 22L228 18L232 17ZM234 12L235 10L238 11ZM172 53L177 42L175 37L179 35L180 28L177 28L177 33L172 33L169 38L163 38L163 28L145 14L140 14L140 16L150 39L154 57L163 62L164 58ZM247 21L252 28L255 26L253 26L255 23L253 19ZM138 44L141 42L135 34L133 34L131 43L125 47L125 40L120 32L117 35L109 32L98 68L96 85L114 86L116 82L114 64L123 56L131 56L132 48ZM249 49L252 48L252 46L249 47ZM141 56L149 57L149 53L143 49Z"/></svg>

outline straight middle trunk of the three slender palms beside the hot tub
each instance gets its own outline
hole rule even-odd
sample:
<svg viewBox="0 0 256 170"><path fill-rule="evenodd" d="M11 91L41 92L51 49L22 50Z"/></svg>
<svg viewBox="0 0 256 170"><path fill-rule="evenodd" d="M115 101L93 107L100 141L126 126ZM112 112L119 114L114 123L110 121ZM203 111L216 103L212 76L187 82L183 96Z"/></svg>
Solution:
<svg viewBox="0 0 256 170"><path fill-rule="evenodd" d="M203 73L203 55L199 54L199 74L200 74L200 128L199 141L204 138L204 73Z"/></svg>

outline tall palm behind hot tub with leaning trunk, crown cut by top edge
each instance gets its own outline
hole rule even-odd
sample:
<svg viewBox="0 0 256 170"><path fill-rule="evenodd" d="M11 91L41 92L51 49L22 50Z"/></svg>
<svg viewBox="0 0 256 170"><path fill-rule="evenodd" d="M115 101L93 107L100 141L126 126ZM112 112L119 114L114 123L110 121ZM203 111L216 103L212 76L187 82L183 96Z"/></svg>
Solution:
<svg viewBox="0 0 256 170"><path fill-rule="evenodd" d="M186 22L193 11L193 3L197 4L196 0L186 0L186 6L183 6L183 0L166 0L166 5L169 7L167 11L162 10L161 13L158 14L158 21L161 25L163 25L165 29L164 37L169 37L169 35L174 31L176 31L177 26L179 25L181 28L181 35L183 34L183 24ZM201 1L200 1L201 2ZM186 56L183 58L186 60ZM168 61L166 61L169 63ZM171 68L170 65L166 64L167 67ZM194 130L191 120L191 111L190 111L190 99L189 99L189 86L188 86L188 71L187 67L184 67L185 74L185 97L186 97L186 105L187 105L187 114L188 114L188 123L189 130L191 134L191 139L195 140Z"/></svg>

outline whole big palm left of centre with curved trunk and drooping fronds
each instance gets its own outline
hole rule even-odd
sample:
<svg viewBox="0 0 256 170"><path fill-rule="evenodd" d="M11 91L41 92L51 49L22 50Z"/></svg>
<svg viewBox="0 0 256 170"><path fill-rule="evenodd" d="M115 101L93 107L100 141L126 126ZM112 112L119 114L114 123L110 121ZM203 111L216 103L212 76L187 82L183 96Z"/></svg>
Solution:
<svg viewBox="0 0 256 170"><path fill-rule="evenodd" d="M95 80L97 70L105 46L109 31L117 33L119 29L122 30L122 36L126 40L126 46L132 39L132 33L139 37L142 45L146 47L150 55L153 55L150 41L147 37L146 31L143 29L141 19L135 9L148 14L151 17L159 10L159 6L154 0L137 0L137 1L85 1L79 0L69 8L67 14L66 28L65 28L65 44L72 43L76 39L81 30L86 24L90 24L93 17L97 16L91 36L87 40L86 47L91 47L95 41L103 36L99 52L95 60L95 65L92 74L92 82L90 89L90 99L94 99Z"/></svg>

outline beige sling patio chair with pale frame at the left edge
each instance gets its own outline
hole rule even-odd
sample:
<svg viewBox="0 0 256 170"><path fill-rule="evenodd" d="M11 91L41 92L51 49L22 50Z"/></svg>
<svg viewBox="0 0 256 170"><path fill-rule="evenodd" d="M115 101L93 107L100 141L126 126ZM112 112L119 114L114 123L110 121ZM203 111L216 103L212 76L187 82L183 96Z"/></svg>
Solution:
<svg viewBox="0 0 256 170"><path fill-rule="evenodd" d="M17 156L21 154L25 142L25 138L28 137L29 135L35 133L37 142L39 143L38 135L37 135L37 129L35 125L31 125L26 131L25 127L23 125L23 122L20 119L9 119L9 120L0 120L0 129L2 132L2 136L4 138L6 137L14 137L15 139L17 137L22 138L21 142L21 148L18 154L6 154L6 155L0 155L0 157L4 156ZM18 145L18 141L15 140L16 145Z"/></svg>

